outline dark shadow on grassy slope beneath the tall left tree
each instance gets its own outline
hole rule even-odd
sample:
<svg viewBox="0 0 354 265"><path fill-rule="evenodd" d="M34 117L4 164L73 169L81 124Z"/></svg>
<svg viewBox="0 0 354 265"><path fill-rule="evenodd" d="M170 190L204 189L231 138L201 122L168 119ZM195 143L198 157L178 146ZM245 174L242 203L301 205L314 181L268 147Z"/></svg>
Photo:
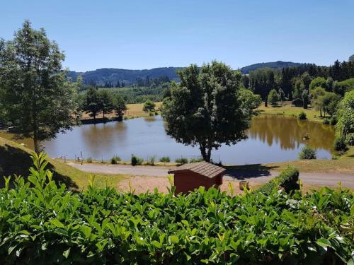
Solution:
<svg viewBox="0 0 354 265"><path fill-rule="evenodd" d="M4 187L4 178L2 176L21 175L28 177L29 168L32 166L33 161L27 151L7 144L0 146L0 187ZM56 172L51 163L48 163L47 169L53 172L53 180L58 184L64 183L68 189L78 189L76 183L69 176Z"/></svg>

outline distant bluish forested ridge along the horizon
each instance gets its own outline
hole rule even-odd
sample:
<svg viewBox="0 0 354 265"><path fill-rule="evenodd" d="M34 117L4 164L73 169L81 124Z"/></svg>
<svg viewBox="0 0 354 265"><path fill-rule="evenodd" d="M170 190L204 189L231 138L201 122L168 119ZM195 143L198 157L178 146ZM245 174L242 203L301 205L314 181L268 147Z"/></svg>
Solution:
<svg viewBox="0 0 354 265"><path fill-rule="evenodd" d="M251 64L250 66L245 66L240 69L241 73L249 73L258 68L273 68L273 69L282 69L284 67L290 66L299 66L300 63L293 63L292 61L274 61L268 63L259 63ZM69 71L68 76L73 80L76 80L76 77L81 75L84 79L84 83L96 83L98 86L103 85L105 82L111 82L114 85L117 81L120 83L123 81L125 85L129 86L132 83L135 83L137 78L146 78L149 76L152 78L159 78L160 76L168 76L170 80L179 81L177 76L177 70L182 69L183 67L160 67L153 69L145 70L127 70L127 69L115 69L115 68L102 68L93 71L86 72L75 72Z"/></svg>

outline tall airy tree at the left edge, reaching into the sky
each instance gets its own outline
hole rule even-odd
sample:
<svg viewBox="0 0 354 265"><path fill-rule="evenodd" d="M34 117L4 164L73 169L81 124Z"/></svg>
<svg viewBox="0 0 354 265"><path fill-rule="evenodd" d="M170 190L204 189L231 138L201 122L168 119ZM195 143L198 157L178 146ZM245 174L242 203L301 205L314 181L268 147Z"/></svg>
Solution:
<svg viewBox="0 0 354 265"><path fill-rule="evenodd" d="M1 40L1 105L18 136L33 139L37 153L40 141L55 138L77 122L76 86L67 80L63 60L45 30L34 30L28 20L13 40Z"/></svg>

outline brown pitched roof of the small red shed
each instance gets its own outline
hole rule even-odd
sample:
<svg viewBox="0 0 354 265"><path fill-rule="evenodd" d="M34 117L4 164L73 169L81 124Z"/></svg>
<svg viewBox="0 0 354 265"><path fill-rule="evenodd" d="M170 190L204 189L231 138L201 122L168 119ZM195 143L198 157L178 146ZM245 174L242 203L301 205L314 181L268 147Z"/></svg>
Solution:
<svg viewBox="0 0 354 265"><path fill-rule="evenodd" d="M189 163L189 164L181 165L180 167L176 167L173 170L169 170L169 174L174 174L176 172L182 172L182 171L191 171L203 175L205 177L212 178L224 173L226 170L224 169L224 167L219 167L212 163L207 163L205 161L202 161L197 163Z"/></svg>

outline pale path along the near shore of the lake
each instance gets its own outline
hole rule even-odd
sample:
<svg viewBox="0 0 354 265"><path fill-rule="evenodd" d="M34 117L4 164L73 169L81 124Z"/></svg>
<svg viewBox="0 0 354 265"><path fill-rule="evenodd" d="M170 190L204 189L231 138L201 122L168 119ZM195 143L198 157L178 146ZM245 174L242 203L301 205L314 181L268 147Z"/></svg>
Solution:
<svg viewBox="0 0 354 265"><path fill-rule="evenodd" d="M93 173L105 174L126 174L134 176L150 176L150 177L166 177L169 167L161 166L135 166L132 165L101 165L101 164L78 164L69 163L72 167L79 170ZM246 179L255 184L262 184L268 182L273 177L277 176L279 172L257 170L228 170L227 175L224 176L225 181ZM338 182L342 183L343 187L354 188L354 172L353 174L329 174L329 173L307 173L300 172L300 179L303 184L314 186L328 186L336 187Z"/></svg>

